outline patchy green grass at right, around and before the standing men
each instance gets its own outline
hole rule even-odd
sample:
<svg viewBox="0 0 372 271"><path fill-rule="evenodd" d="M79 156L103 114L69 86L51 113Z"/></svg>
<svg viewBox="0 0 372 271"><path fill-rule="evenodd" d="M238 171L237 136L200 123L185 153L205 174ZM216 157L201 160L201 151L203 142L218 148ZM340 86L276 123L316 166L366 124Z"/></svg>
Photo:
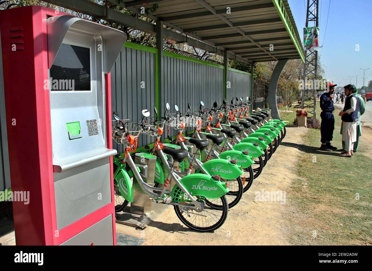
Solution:
<svg viewBox="0 0 372 271"><path fill-rule="evenodd" d="M339 111L334 112L336 124L332 144L340 149ZM317 112L319 115L319 106ZM295 215L298 219L293 223L291 242L372 245L371 158L363 148L352 158L338 157L340 152L321 152L320 130L317 129L309 129L304 142L305 146L299 146L304 153L297 165L301 178L292 184L291 198L300 213Z"/></svg>

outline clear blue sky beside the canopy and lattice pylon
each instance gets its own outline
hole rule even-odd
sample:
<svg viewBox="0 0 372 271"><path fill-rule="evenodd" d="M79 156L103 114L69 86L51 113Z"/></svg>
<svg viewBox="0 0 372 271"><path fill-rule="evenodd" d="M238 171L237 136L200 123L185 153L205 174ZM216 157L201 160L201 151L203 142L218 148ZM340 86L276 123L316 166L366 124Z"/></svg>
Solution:
<svg viewBox="0 0 372 271"><path fill-rule="evenodd" d="M295 18L298 32L302 37L305 27L307 0L288 0ZM330 4L327 29L328 6ZM319 0L321 65L325 78L338 85L350 82L357 87L363 85L363 71L359 68L370 68L365 71L365 85L372 80L372 0ZM314 24L309 24L314 26ZM325 36L324 36L325 35ZM356 51L359 44L359 51Z"/></svg>

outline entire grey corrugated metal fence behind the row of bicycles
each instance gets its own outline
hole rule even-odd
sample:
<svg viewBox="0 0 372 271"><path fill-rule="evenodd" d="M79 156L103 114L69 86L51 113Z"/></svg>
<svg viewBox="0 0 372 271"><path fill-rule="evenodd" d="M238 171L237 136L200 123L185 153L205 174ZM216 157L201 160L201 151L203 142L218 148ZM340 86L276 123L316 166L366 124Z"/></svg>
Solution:
<svg viewBox="0 0 372 271"><path fill-rule="evenodd" d="M157 50L127 42L111 71L112 111L133 122L141 120L142 109L147 108L154 116L156 105ZM192 111L199 109L200 101L211 108L214 101L222 103L224 92L224 67L195 58L164 51L164 71L160 94L159 114L164 114L166 102L174 111L177 104L181 112L190 103ZM234 69L227 73L228 102L232 96L249 96L251 75ZM144 87L144 88L141 88ZM174 131L170 130L170 135ZM167 132L165 132L167 134ZM152 143L154 139L141 136L138 146ZM114 144L116 146L116 144ZM118 149L119 152L124 150Z"/></svg>

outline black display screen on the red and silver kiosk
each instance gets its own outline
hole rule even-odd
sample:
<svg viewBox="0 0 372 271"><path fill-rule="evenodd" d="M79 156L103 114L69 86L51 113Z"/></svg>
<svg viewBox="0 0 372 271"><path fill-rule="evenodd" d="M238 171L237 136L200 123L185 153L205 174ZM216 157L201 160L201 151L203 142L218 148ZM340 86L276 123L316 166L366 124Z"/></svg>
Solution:
<svg viewBox="0 0 372 271"><path fill-rule="evenodd" d="M51 90L91 90L89 48L62 43L49 80Z"/></svg>

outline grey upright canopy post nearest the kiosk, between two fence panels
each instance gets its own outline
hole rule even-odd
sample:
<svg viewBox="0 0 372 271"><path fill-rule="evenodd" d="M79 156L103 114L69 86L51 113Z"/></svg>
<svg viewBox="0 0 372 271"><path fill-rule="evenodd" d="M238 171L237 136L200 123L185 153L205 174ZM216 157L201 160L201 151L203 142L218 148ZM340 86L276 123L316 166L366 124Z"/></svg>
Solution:
<svg viewBox="0 0 372 271"><path fill-rule="evenodd" d="M164 51L163 51L163 36L164 36L164 27L163 21L156 22L156 49L157 54L155 56L155 98L156 98L156 108L158 110L159 118L164 115L165 105L162 100L163 94L163 71L164 71Z"/></svg>

